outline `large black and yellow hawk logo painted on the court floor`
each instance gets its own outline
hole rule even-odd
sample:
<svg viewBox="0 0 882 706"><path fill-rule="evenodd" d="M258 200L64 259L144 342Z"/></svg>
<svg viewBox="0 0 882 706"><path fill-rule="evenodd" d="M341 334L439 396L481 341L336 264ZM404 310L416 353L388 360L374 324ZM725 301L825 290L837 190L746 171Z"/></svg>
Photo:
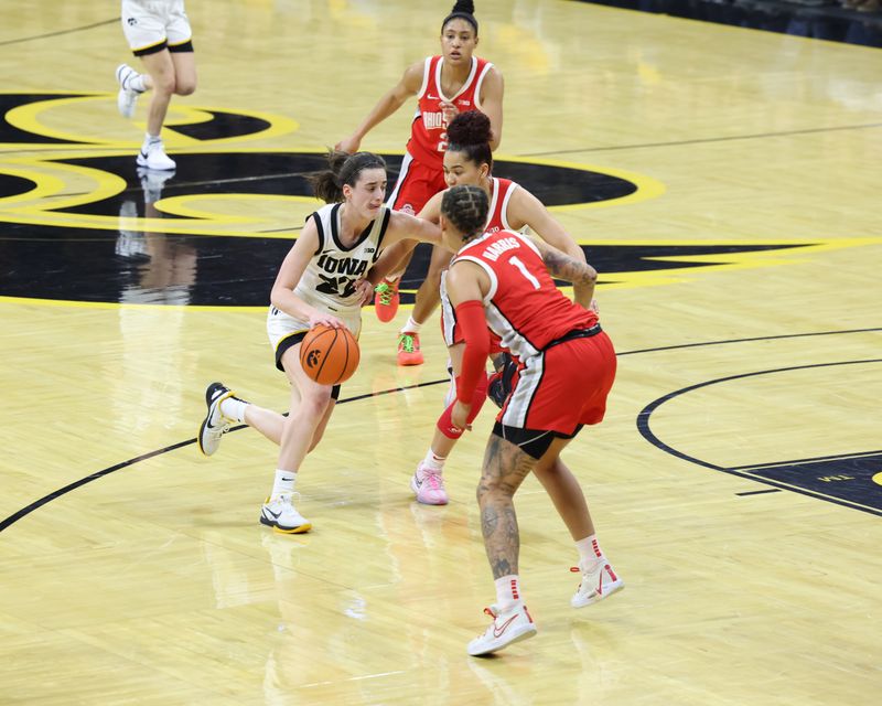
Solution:
<svg viewBox="0 0 882 706"><path fill-rule="evenodd" d="M37 149L24 160L33 169L0 168L0 223L3 224L2 259L6 274L0 296L85 302L201 304L265 307L279 265L302 227L293 221L283 233L229 233L228 213L241 210L243 199L311 197L311 173L326 164L324 154L312 152L235 151L230 142L273 135L283 118L203 110L207 120L172 122L179 132L200 142L200 152L174 151L178 168L161 189L147 189L137 173L135 153L120 149L108 154L106 142L88 136L62 139L49 133L37 120L10 120L15 108L35 111L62 109L77 100L104 100L112 96L89 94L0 94L0 145L31 145ZM69 108L73 109L73 108ZM44 133L44 131L46 133ZM223 140L225 150L206 151ZM71 152L58 156L58 145ZM100 153L89 154L100 147ZM53 148L39 149L39 148ZM401 156L386 154L389 189ZM54 170L54 171L53 171ZM605 173L574 164L498 159L494 174L512 179L549 207L579 206L654 197L664 186L649 178ZM69 185L58 182L69 181ZM86 184L97 185L92 188ZM43 197L68 192L65 199ZM158 193L159 192L159 193ZM648 195L641 195L648 194ZM149 196L149 199L148 199ZM175 204L162 211L157 202ZM197 200L197 201L196 201ZM211 212L217 202L229 206ZM206 203L198 210L190 203ZM235 204L234 204L235 202ZM316 203L316 206L319 204ZM207 208L207 211L206 211ZM227 218L225 221L225 218ZM149 224L149 229L148 229ZM219 227L223 224L224 227ZM589 261L601 272L601 285L658 284L663 271L682 277L686 270L731 266L764 253L786 250L811 243L703 244L610 243L604 234L574 234ZM247 263L247 275L241 264ZM401 301L413 301L413 290L428 272L429 249L418 247L402 278ZM52 277L45 277L51 271ZM352 277L326 278L322 286L334 293L352 293ZM336 275L340 275L337 272ZM639 276L635 279L635 275ZM643 280L641 280L643 278ZM664 284L664 282L663 282Z"/></svg>

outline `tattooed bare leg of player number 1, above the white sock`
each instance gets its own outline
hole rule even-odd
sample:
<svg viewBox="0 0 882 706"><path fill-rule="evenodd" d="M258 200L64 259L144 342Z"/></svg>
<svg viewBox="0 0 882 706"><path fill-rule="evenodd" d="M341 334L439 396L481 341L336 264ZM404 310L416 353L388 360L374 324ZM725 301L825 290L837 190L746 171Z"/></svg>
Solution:
<svg viewBox="0 0 882 706"><path fill-rule="evenodd" d="M491 436L477 485L477 504L484 548L494 579L518 573L520 536L514 495L535 464L534 458L510 441Z"/></svg>

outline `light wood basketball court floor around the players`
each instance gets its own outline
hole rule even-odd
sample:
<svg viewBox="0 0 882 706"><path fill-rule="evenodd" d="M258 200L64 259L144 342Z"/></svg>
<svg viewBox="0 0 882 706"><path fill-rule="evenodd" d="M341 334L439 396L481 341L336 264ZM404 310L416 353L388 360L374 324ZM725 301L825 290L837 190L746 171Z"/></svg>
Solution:
<svg viewBox="0 0 882 706"><path fill-rule="evenodd" d="M450 4L189 0L200 86L171 120L212 108L281 127L212 146L171 135L169 151L334 143L437 51ZM193 443L213 379L286 408L261 308L4 297L0 703L879 703L882 468L845 504L833 501L857 482L848 466L825 467L821 494L736 469L882 449L882 53L579 2L477 6L480 53L506 81L499 157L645 185L646 197L556 212L589 257L604 245L810 246L602 272L620 373L606 420L567 459L626 590L570 608L576 553L528 479L521 581L539 634L497 659L465 654L494 596L474 500L492 415L448 463L450 505L416 504L408 480L441 409L445 353L432 324L426 365L396 367L407 309L397 325L365 312L361 368L301 473L314 530L281 536L257 522L275 448L249 429L212 459ZM4 0L2 90L93 96L22 118L93 145L0 146L0 173L133 156L144 107L135 124L116 113L117 14ZM363 147L400 153L410 115ZM86 179L33 204L0 200L0 252L40 238L40 207ZM241 216L229 227L243 235L312 207L191 205L220 214L215 232ZM22 235L13 222L33 225ZM12 269L0 258L2 280Z"/></svg>

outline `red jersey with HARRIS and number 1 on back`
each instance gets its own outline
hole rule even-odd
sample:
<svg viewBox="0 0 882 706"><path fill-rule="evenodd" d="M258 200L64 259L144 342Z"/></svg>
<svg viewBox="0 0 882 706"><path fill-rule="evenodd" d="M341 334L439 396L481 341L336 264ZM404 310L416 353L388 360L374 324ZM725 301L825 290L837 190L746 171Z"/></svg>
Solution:
<svg viewBox="0 0 882 706"><path fill-rule="evenodd" d="M480 265L491 280L484 299L487 327L501 345L524 360L576 329L589 329L598 314L564 297L537 247L513 231L485 233L464 245L451 263Z"/></svg>

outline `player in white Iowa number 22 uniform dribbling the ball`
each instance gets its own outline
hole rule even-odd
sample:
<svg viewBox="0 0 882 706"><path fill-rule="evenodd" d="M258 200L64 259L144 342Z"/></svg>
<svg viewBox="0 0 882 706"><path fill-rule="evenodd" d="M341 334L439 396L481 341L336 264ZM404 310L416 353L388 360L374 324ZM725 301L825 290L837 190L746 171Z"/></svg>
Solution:
<svg viewBox="0 0 882 706"><path fill-rule="evenodd" d="M245 422L280 446L272 491L260 522L282 533L312 526L294 507L298 471L321 441L340 385L320 385L300 363L300 345L316 324L347 328L356 338L362 306L373 295L365 276L384 247L404 238L439 243L440 231L427 221L384 205L386 163L370 152L332 152L329 169L312 178L315 195L327 205L306 218L272 286L267 333L276 366L291 385L288 417L236 397L222 383L205 392L208 411L198 435L200 449L213 454L222 435Z"/></svg>

